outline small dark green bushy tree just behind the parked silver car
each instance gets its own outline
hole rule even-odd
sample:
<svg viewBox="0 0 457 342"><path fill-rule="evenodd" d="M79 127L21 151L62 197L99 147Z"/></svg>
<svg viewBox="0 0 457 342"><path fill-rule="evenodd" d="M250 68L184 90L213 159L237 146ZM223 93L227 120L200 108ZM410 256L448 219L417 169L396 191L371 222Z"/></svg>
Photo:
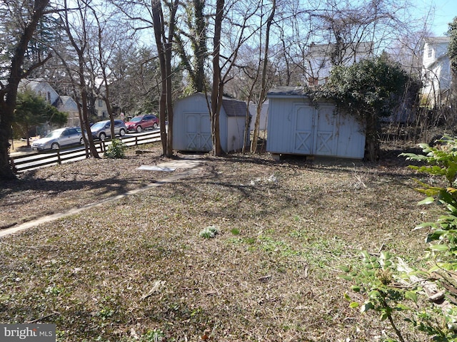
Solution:
<svg viewBox="0 0 457 342"><path fill-rule="evenodd" d="M18 93L13 127L15 132L26 137L27 146L30 145L29 132L31 128L42 124L64 125L66 120L66 113L59 112L57 108L33 91L26 90L24 93Z"/></svg>

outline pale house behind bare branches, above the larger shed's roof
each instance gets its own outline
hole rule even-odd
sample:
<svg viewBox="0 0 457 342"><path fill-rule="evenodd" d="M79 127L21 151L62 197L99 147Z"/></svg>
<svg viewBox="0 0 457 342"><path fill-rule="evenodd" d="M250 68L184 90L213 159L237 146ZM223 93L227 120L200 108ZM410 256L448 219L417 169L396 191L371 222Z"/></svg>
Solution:
<svg viewBox="0 0 457 342"><path fill-rule="evenodd" d="M373 42L343 44L339 51L335 43L311 43L305 62L305 83L307 86L325 84L334 65L351 66L372 56Z"/></svg>

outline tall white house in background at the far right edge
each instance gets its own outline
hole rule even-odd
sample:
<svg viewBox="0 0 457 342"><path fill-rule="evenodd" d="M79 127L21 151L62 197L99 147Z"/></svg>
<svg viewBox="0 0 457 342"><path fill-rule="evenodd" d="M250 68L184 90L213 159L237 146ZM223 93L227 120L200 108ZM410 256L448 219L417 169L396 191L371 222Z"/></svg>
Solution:
<svg viewBox="0 0 457 342"><path fill-rule="evenodd" d="M448 56L449 37L424 39L422 76L423 96L431 107L448 103L451 90L451 60Z"/></svg>

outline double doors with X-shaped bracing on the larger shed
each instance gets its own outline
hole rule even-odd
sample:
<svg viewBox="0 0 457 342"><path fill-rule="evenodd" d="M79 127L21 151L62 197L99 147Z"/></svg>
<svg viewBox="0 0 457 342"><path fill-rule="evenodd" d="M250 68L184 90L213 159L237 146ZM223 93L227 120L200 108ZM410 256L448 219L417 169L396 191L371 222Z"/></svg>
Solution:
<svg viewBox="0 0 457 342"><path fill-rule="evenodd" d="M333 105L295 105L293 152L303 155L336 155L338 115Z"/></svg>

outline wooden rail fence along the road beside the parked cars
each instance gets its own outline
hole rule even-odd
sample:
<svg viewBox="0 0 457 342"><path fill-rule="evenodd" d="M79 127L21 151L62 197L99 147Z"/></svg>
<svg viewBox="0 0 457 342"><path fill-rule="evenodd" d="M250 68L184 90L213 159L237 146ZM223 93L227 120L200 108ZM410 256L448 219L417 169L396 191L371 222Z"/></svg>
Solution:
<svg viewBox="0 0 457 342"><path fill-rule="evenodd" d="M150 142L160 141L160 132L145 133L135 135L134 137L121 138L126 146L136 146L147 144ZM97 152L104 152L106 147L111 145L111 140L96 142L95 147ZM91 153L86 147L66 147L59 150L51 150L45 152L31 152L24 155L10 157L11 165L14 172L24 172L28 170L38 169L40 167L48 167L52 165L63 164L64 162L76 162L89 158Z"/></svg>

